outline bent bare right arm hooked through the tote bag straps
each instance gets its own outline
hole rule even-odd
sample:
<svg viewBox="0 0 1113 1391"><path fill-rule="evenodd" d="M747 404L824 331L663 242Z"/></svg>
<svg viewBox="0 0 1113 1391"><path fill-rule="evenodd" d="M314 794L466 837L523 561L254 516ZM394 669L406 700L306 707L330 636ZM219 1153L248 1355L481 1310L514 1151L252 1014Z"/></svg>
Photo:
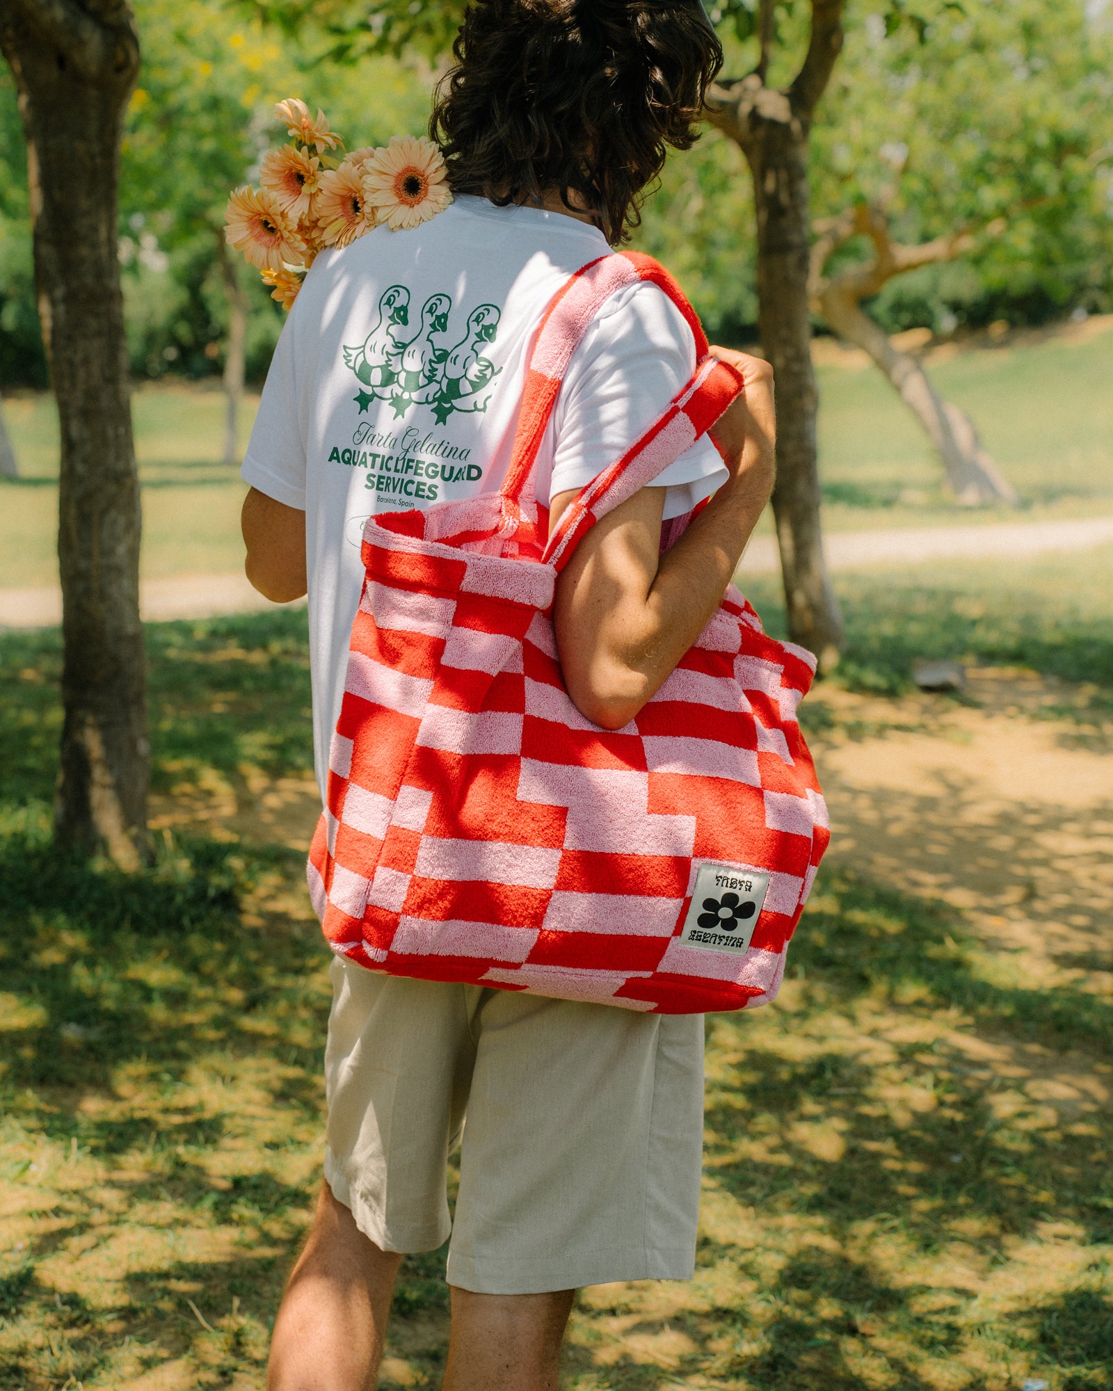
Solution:
<svg viewBox="0 0 1113 1391"><path fill-rule="evenodd" d="M772 369L714 348L746 380L711 437L730 479L659 555L664 488L643 488L598 522L556 583L554 620L568 693L604 729L637 715L722 601L774 485ZM552 499L551 524L575 498Z"/></svg>

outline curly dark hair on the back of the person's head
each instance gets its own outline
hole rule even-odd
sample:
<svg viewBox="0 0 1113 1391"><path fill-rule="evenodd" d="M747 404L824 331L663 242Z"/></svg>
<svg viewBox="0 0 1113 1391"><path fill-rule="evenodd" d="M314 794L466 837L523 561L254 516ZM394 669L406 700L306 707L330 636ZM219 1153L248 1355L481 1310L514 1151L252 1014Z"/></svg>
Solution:
<svg viewBox="0 0 1113 1391"><path fill-rule="evenodd" d="M555 189L612 245L666 147L697 139L722 65L700 0L474 0L452 51L429 134L454 192L505 207Z"/></svg>

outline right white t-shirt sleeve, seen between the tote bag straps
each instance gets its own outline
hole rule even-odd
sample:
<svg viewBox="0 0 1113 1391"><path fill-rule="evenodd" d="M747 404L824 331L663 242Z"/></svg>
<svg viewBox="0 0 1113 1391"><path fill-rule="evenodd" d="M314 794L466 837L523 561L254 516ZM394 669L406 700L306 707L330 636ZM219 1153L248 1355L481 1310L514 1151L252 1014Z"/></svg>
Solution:
<svg viewBox="0 0 1113 1391"><path fill-rule="evenodd" d="M696 339L662 289L643 281L615 295L573 355L552 413L550 501L619 459L694 370ZM728 476L701 435L657 477L654 487L668 490L665 517L690 512Z"/></svg>

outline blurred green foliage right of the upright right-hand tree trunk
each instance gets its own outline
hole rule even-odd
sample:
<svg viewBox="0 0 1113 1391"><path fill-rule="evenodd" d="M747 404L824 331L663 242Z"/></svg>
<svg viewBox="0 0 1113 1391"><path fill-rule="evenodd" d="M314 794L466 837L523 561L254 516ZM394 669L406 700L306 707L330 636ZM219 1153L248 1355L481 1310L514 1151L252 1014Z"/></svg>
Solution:
<svg viewBox="0 0 1113 1391"><path fill-rule="evenodd" d="M851 11L814 131L817 214L882 198L900 241L982 230L963 266L890 281L888 328L1113 306L1110 97L1113 33L1077 0L967 0L924 43Z"/></svg>

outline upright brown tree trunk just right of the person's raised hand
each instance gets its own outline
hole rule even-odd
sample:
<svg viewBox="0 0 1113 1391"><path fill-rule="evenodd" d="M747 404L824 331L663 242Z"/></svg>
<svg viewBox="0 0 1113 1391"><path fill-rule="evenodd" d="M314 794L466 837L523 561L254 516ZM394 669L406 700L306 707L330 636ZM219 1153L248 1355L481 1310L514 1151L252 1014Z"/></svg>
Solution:
<svg viewBox="0 0 1113 1391"><path fill-rule="evenodd" d="M793 128L796 127L796 128ZM776 381L774 516L789 636L831 670L843 627L824 559L811 364L807 138L797 122L764 121L744 146L754 177L757 295L761 346Z"/></svg>

